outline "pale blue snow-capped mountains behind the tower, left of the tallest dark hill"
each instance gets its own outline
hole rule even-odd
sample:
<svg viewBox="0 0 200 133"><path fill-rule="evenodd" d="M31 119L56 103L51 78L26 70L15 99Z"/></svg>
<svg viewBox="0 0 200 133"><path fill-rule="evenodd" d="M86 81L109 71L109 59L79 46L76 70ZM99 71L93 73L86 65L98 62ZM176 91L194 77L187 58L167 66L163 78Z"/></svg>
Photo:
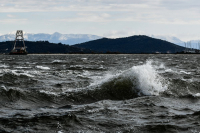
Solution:
<svg viewBox="0 0 200 133"><path fill-rule="evenodd" d="M96 35L89 34L60 34L55 32L53 34L32 34L32 33L24 33L24 39L27 41L49 41L52 43L62 43L62 44L78 44L91 40L100 39L102 37ZM3 41L12 41L15 39L15 33L9 33L6 35L0 36L0 42Z"/></svg>

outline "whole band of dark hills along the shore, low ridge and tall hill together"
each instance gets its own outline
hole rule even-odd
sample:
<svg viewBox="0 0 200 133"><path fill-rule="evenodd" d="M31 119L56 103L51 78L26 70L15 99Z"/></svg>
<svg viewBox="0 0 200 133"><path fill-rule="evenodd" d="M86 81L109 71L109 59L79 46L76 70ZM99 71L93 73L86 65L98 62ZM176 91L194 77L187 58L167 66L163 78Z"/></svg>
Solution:
<svg viewBox="0 0 200 133"><path fill-rule="evenodd" d="M13 41L0 42L0 53L8 53ZM20 44L20 42L18 42ZM126 38L101 38L76 45L49 43L48 41L25 41L29 53L176 53L185 50L176 44L148 36ZM21 44L22 45L22 42ZM19 46L18 46L19 47Z"/></svg>

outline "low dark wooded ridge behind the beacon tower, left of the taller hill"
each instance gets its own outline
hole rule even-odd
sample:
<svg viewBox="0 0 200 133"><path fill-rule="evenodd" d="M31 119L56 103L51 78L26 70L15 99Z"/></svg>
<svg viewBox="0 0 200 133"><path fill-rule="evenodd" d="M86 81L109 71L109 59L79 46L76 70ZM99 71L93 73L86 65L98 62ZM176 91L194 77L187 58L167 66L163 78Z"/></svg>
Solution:
<svg viewBox="0 0 200 133"><path fill-rule="evenodd" d="M54 44L48 41L25 41L28 53L92 53L91 50L77 48L65 44ZM0 53L9 53L13 49L14 42L0 42Z"/></svg>

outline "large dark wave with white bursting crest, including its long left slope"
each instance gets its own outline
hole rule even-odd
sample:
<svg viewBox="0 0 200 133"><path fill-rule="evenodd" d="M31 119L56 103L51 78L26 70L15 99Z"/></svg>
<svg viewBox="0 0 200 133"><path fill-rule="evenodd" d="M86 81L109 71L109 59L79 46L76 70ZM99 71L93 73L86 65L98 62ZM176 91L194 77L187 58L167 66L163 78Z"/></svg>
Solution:
<svg viewBox="0 0 200 133"><path fill-rule="evenodd" d="M106 74L96 78L87 88L69 90L64 94L68 95L68 98L82 99L80 101L84 102L83 99L123 100L159 95L167 89L168 81L158 74L152 61L147 61L143 65L133 66L117 74Z"/></svg>

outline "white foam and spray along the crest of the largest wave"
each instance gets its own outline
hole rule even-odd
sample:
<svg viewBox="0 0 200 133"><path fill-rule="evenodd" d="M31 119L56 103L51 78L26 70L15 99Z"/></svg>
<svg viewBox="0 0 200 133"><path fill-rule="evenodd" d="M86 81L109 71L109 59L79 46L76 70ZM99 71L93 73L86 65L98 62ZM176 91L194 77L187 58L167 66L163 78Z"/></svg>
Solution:
<svg viewBox="0 0 200 133"><path fill-rule="evenodd" d="M143 65L133 66L117 74L106 74L103 77L98 77L91 85L103 84L120 76L129 78L140 93L144 95L159 95L168 88L168 81L158 74L152 62L150 60Z"/></svg>

